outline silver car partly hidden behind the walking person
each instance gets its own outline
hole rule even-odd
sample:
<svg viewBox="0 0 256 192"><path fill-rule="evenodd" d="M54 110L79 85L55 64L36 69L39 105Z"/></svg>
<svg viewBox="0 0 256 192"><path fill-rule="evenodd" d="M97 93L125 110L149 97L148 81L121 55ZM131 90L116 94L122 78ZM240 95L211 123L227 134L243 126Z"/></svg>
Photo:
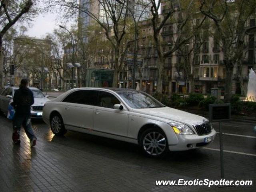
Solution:
<svg viewBox="0 0 256 192"><path fill-rule="evenodd" d="M28 87L34 96L34 104L31 106L31 118L42 118L44 104L49 101L48 96L35 87ZM12 101L14 93L19 87L7 87L0 93L0 111L8 113L8 105Z"/></svg>

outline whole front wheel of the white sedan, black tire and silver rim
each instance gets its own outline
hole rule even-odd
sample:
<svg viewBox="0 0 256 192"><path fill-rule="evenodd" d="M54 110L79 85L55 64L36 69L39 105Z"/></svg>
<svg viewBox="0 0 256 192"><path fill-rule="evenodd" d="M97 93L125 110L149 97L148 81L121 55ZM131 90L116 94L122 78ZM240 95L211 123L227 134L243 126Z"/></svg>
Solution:
<svg viewBox="0 0 256 192"><path fill-rule="evenodd" d="M140 136L140 148L146 156L160 158L168 152L168 140L160 128L149 128Z"/></svg>

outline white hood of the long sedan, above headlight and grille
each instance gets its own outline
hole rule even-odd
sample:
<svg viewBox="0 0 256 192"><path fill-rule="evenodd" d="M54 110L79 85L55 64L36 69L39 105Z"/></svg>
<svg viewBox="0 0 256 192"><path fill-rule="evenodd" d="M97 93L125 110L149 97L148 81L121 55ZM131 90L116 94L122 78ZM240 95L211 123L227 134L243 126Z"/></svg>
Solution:
<svg viewBox="0 0 256 192"><path fill-rule="evenodd" d="M188 113L182 110L170 108L170 107L162 107L162 108L145 108L145 109L133 109L134 112L152 115L160 118L165 118L176 122L181 122L184 124L195 124L198 122L208 121L206 118L195 115L192 113Z"/></svg>

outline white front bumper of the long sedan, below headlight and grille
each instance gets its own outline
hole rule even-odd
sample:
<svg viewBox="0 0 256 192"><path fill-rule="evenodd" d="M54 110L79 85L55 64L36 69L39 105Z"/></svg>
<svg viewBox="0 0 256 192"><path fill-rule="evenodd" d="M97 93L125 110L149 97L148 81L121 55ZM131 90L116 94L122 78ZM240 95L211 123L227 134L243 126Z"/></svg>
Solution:
<svg viewBox="0 0 256 192"><path fill-rule="evenodd" d="M169 145L170 151L185 151L190 149L201 148L207 146L214 141L216 131L212 129L212 132L207 135L176 135L179 142L177 145ZM204 143L204 138L213 137L213 140L209 143Z"/></svg>

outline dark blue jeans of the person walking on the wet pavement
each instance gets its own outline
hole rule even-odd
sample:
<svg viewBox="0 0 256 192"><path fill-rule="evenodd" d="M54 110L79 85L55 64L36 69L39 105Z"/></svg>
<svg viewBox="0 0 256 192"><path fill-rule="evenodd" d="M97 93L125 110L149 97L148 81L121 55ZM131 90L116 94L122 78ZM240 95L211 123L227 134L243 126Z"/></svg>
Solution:
<svg viewBox="0 0 256 192"><path fill-rule="evenodd" d="M14 115L13 118L13 131L20 133L20 128L23 126L30 141L36 139L36 136L31 126L31 116L27 115Z"/></svg>

